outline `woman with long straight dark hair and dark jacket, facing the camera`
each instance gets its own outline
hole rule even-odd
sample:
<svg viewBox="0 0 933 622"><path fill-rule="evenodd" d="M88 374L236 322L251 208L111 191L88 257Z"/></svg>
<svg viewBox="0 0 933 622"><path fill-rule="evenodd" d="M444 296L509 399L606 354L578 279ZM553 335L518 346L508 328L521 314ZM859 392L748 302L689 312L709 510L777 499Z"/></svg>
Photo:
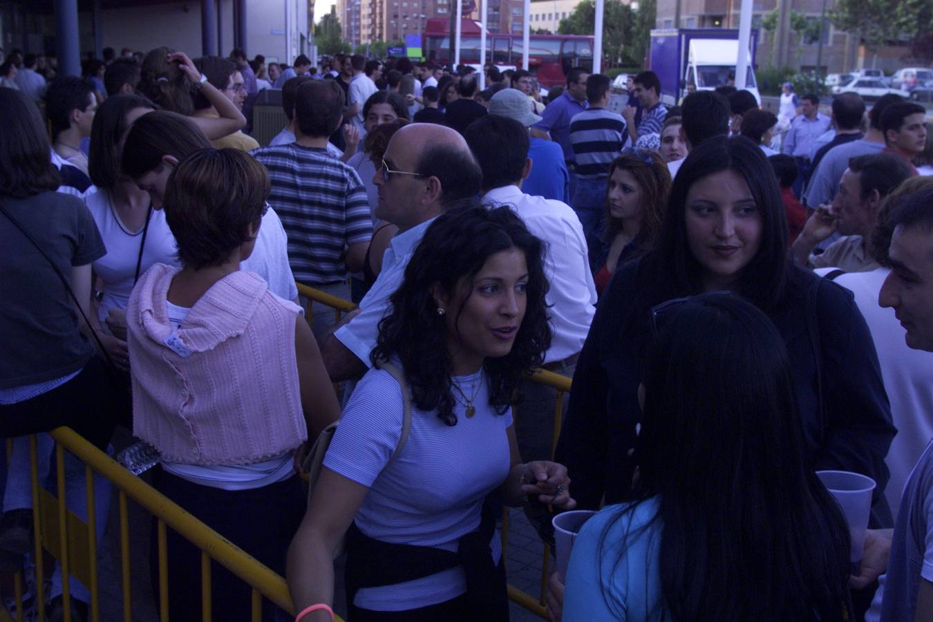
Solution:
<svg viewBox="0 0 933 622"><path fill-rule="evenodd" d="M557 446L582 507L631 498L643 422L636 398L650 327L665 300L728 290L771 318L787 346L807 464L872 477L873 525L889 526L884 465L895 428L865 319L842 287L787 260L771 166L744 137L690 151L648 256L620 268L593 318Z"/></svg>

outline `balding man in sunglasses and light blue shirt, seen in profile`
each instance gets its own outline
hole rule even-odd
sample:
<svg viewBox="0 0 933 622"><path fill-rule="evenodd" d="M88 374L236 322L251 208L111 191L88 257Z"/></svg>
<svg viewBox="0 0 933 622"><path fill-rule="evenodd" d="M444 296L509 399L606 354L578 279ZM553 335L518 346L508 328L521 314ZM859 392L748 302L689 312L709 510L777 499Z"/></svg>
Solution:
<svg viewBox="0 0 933 622"><path fill-rule="evenodd" d="M482 173L463 136L433 123L412 123L393 134L372 183L379 191L376 216L398 228L383 256L383 269L359 311L321 343L330 380L361 377L371 365L379 321L389 297L431 222L458 201L476 198Z"/></svg>

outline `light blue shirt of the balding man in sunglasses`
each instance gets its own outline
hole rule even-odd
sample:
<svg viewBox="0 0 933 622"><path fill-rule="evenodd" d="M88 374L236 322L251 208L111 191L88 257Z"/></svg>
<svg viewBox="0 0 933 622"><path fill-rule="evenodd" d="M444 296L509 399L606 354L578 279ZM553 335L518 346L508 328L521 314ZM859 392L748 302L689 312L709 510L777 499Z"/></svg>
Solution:
<svg viewBox="0 0 933 622"><path fill-rule="evenodd" d="M376 345L379 322L389 310L389 297L395 294L398 286L402 284L405 268L414 255L414 249L421 243L432 222L434 218L397 233L392 238L383 254L383 270L379 272L376 283L372 283L366 296L359 301L359 314L334 332L334 337L368 367L372 366L369 352L372 352Z"/></svg>

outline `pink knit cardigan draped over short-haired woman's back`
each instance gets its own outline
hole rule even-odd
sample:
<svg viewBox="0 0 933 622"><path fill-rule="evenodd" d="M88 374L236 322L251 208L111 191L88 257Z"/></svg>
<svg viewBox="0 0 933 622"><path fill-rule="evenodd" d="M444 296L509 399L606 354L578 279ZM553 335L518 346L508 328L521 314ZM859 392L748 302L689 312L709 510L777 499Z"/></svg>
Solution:
<svg viewBox="0 0 933 622"><path fill-rule="evenodd" d="M174 330L165 302L177 272L147 270L127 308L133 434L178 463L249 464L298 447L308 437L299 307L239 271L211 286Z"/></svg>

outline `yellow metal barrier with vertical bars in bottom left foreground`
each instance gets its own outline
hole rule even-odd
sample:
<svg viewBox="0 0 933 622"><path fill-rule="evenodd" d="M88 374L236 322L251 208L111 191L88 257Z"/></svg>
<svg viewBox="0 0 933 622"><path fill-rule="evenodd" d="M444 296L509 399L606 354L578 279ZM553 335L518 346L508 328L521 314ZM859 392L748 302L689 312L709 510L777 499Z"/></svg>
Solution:
<svg viewBox="0 0 933 622"><path fill-rule="evenodd" d="M132 589L130 574L130 534L129 512L127 499L130 498L146 509L158 520L158 548L159 548L159 601L160 619L168 620L168 564L166 556L166 529L172 528L191 544L202 551L202 595L206 598L202 602L202 619L211 619L210 560L216 560L232 574L244 581L252 592L252 619L254 622L261 619L261 603L266 598L285 609L291 615L295 614L291 597L285 579L275 574L261 564L258 560L245 553L238 546L230 543L219 533L202 523L198 518L191 516L185 509L174 504L168 497L162 495L139 477L135 477L123 466L95 448L87 440L77 435L70 428L58 428L49 433L56 441L56 476L58 479L58 500L53 502L43 498L49 494L44 491L38 481L38 463L36 458L35 436L31 437L30 453L32 462L33 512L35 529L35 598L38 608L38 619L45 620L45 606L43 594L43 550L48 550L62 566L63 577L63 608L65 622L71 618L68 594L69 573L75 574L85 582L91 591L90 615L91 620L100 620L100 603L97 589L97 542L94 531L94 482L93 474L98 473L114 485L119 491L119 528L120 553L122 557L122 595L123 620L132 622ZM88 492L88 517L86 524L71 514L65 507L65 478L64 478L64 450L70 451L77 459L85 463L85 473ZM57 521L50 519L50 510L57 510ZM83 526L85 529L81 529ZM80 566L75 567L73 560L77 551L86 551L84 556L77 557ZM83 557L83 559L81 559ZM85 563L86 562L86 563ZM17 607L17 620L22 619L22 577L17 574L15 579L15 598ZM0 608L6 614L6 611ZM0 620L9 619L9 615L0 615ZM340 618L338 618L340 619Z"/></svg>

